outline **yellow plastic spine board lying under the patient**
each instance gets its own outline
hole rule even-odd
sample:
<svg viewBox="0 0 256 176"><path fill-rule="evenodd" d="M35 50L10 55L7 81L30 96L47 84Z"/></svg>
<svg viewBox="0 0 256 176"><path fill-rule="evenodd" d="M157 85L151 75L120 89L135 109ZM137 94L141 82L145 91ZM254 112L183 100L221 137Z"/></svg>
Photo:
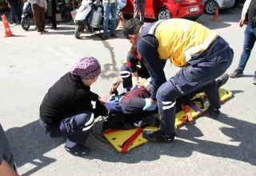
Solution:
<svg viewBox="0 0 256 176"><path fill-rule="evenodd" d="M224 101L226 101L226 99L228 99L232 96L232 92L230 92L229 90L224 90L224 89L220 88L219 89L219 95L220 95L220 98L221 98L221 102L224 102ZM203 94L197 94L194 98L201 98L202 96L203 96ZM193 100L194 98L192 98L191 100ZM206 109L201 108L201 102L194 102L194 104L196 106L198 106L198 108L200 110L202 110L202 112L206 112ZM191 107L190 107L190 112L191 112L192 118L196 118L199 115L199 113L196 112ZM159 114L156 114L155 116L159 118ZM176 114L175 127L182 125L182 122L179 119L184 118L184 117L186 117L186 113L183 110ZM118 150L119 152L122 152L123 144L137 130L138 130L138 128L135 128L135 129L132 129L132 130L118 130L118 131L115 131L115 132L112 132L112 133L106 133L106 134L104 134L104 137L110 142L110 144L112 146L114 146L114 148L116 150ZM148 126L148 127L145 128L145 130L158 130L158 128L154 127L154 126ZM142 138L142 134L140 134L138 136L138 138L136 138L134 140L134 142L132 142L130 144L130 146L128 147L127 152L132 150L134 147L140 146L140 145L142 145L143 143L146 143L146 142L148 142L148 141L145 138Z"/></svg>

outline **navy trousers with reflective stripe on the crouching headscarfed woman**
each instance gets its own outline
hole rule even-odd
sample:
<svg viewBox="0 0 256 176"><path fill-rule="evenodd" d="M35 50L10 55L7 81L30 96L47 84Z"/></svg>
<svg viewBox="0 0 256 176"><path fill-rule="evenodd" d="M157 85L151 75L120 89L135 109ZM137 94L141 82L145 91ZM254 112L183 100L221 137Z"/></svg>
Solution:
<svg viewBox="0 0 256 176"><path fill-rule="evenodd" d="M63 119L58 124L46 124L39 119L42 129L52 138L66 137L71 142L84 145L94 125L94 114L84 111Z"/></svg>

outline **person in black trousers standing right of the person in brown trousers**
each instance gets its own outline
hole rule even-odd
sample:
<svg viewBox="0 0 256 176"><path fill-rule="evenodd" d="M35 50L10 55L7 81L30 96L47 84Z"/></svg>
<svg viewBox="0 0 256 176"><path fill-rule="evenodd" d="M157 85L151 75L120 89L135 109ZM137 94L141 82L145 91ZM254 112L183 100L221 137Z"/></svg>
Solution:
<svg viewBox="0 0 256 176"><path fill-rule="evenodd" d="M52 27L51 30L57 29L57 22L56 22L56 16L55 14L58 14L58 0L48 0L47 3L47 17L50 18Z"/></svg>

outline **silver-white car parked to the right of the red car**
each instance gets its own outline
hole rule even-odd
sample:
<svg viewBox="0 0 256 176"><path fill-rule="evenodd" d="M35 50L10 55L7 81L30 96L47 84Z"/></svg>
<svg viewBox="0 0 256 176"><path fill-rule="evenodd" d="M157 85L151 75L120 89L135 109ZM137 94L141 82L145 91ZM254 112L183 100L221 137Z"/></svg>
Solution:
<svg viewBox="0 0 256 176"><path fill-rule="evenodd" d="M224 10L224 9L230 9L232 6L234 6L235 0L203 0L203 4L205 5L205 13L206 14L215 14L215 11L217 9Z"/></svg>

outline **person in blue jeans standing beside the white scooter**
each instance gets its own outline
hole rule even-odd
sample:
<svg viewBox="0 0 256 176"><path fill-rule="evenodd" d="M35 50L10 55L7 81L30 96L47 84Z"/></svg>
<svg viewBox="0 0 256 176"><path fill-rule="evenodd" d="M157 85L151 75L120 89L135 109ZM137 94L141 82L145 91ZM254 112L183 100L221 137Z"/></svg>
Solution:
<svg viewBox="0 0 256 176"><path fill-rule="evenodd" d="M117 10L118 10L118 0L103 0L104 6L104 22L103 22L103 35L102 40L106 40L107 30L109 28L109 19L111 14L111 27L110 27L110 37L118 38L115 34L115 26L116 26L116 18L117 18Z"/></svg>

